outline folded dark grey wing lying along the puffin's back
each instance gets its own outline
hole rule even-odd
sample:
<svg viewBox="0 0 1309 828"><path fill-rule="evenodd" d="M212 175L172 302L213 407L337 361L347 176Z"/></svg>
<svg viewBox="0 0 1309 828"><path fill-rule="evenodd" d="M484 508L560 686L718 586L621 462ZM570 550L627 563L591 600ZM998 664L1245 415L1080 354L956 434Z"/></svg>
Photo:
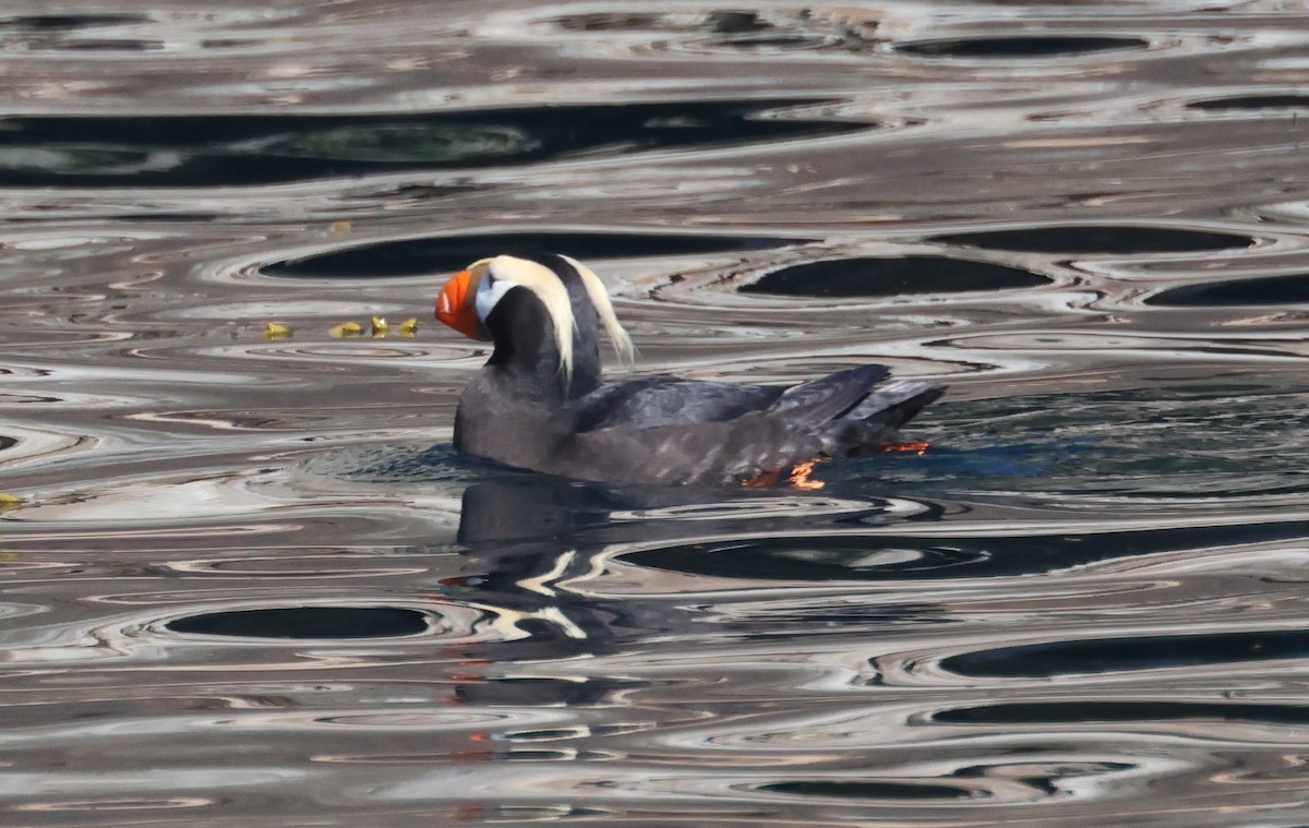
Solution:
<svg viewBox="0 0 1309 828"><path fill-rule="evenodd" d="M597 431L721 422L767 409L783 390L772 385L662 376L605 383L572 404L573 427L576 431Z"/></svg>

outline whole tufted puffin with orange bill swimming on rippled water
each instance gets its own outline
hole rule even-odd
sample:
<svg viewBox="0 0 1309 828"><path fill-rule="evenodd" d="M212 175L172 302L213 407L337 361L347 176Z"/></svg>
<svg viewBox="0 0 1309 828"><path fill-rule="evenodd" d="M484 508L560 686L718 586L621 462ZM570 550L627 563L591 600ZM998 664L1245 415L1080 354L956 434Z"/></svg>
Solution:
<svg viewBox="0 0 1309 828"><path fill-rule="evenodd" d="M628 364L632 341L600 278L554 253L473 262L441 290L436 318L495 343L459 398L454 447L584 481L798 485L817 460L895 443L895 428L945 390L878 385L890 373L885 366L789 388L672 376L606 381L601 329Z"/></svg>

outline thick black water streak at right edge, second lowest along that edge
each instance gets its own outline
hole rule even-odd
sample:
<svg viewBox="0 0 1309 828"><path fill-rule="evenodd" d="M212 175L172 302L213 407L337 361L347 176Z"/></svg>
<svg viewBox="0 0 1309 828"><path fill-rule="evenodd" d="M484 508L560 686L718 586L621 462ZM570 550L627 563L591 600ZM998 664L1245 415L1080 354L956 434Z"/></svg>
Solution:
<svg viewBox="0 0 1309 828"><path fill-rule="evenodd" d="M1058 641L952 655L941 667L961 676L1050 679L1178 667L1309 658L1309 630L1141 635Z"/></svg>

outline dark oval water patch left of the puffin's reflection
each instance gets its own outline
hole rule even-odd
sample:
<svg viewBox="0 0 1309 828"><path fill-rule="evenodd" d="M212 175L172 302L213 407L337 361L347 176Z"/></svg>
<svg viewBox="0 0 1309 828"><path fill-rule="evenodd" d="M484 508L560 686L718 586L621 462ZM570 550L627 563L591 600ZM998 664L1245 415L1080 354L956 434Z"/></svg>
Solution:
<svg viewBox="0 0 1309 828"><path fill-rule="evenodd" d="M240 638L394 638L419 635L429 616L398 607L283 607L238 609L177 618L174 633Z"/></svg>

